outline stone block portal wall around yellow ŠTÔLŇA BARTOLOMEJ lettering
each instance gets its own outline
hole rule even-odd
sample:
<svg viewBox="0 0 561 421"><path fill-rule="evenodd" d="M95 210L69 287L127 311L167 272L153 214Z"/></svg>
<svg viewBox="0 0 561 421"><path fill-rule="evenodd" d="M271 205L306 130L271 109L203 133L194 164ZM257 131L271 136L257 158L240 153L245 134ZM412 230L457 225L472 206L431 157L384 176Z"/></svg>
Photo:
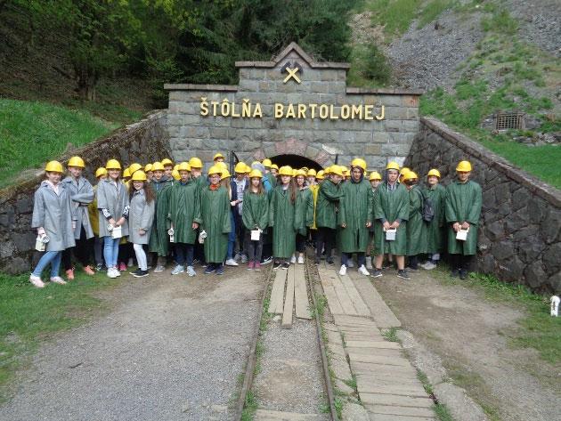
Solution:
<svg viewBox="0 0 561 421"><path fill-rule="evenodd" d="M301 66L301 83L284 81L286 63ZM402 161L419 129L419 91L359 89L346 86L348 63L315 62L297 45L289 45L270 62L241 61L239 85L166 85L169 91L168 134L173 157L180 161L198 156L206 164L216 151L236 152L251 162L265 157L296 154L321 166L346 164L364 157L369 168L386 166L388 158ZM247 99L262 105L262 118L203 117L201 98L240 107ZM274 103L374 104L385 106L381 121L365 119L275 118Z"/></svg>

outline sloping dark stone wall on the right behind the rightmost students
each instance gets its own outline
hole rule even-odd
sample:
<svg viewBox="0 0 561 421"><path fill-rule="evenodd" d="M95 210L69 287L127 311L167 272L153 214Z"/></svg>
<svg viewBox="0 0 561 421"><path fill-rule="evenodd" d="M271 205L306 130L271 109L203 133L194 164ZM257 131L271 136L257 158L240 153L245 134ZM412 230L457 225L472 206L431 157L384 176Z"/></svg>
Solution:
<svg viewBox="0 0 561 421"><path fill-rule="evenodd" d="M561 191L442 122L422 117L406 165L419 177L438 168L447 184L461 159L472 163L472 178L483 188L476 271L560 293Z"/></svg>

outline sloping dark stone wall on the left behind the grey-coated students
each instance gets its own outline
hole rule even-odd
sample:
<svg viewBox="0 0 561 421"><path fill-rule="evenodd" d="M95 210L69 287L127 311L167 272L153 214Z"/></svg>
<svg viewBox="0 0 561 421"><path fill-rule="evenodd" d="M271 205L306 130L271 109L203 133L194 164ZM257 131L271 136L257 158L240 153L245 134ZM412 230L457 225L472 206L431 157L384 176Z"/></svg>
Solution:
<svg viewBox="0 0 561 421"><path fill-rule="evenodd" d="M110 134L83 148L71 150L61 157L53 157L63 164L73 155L85 159L85 175L95 182L95 168L104 166L108 159L117 158L121 164L148 163L169 156L166 113L150 114L134 125ZM20 273L29 271L37 259L36 232L31 230L33 195L45 178L43 171L26 182L0 190L0 271Z"/></svg>

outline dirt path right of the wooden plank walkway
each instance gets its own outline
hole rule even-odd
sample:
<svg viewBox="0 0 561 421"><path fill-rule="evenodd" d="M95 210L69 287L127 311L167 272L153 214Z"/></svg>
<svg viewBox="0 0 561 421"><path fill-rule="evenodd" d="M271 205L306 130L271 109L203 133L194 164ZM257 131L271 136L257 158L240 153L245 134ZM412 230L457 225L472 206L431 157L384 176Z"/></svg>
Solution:
<svg viewBox="0 0 561 421"><path fill-rule="evenodd" d="M490 419L558 418L560 369L540 360L532 349L508 345L508 332L517 328L516 320L524 312L489 301L459 283L443 283L427 271L411 274L409 282L386 272L374 282L402 328L443 359L453 382L464 387Z"/></svg>

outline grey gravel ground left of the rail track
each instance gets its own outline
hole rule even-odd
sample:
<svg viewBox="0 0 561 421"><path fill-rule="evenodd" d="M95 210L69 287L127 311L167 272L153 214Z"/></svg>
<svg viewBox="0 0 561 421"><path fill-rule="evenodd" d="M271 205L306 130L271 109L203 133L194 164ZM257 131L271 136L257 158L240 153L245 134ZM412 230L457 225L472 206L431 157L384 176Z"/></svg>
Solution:
<svg viewBox="0 0 561 421"><path fill-rule="evenodd" d="M114 311L44 345L0 419L232 419L213 409L238 390L263 278L131 277Z"/></svg>

